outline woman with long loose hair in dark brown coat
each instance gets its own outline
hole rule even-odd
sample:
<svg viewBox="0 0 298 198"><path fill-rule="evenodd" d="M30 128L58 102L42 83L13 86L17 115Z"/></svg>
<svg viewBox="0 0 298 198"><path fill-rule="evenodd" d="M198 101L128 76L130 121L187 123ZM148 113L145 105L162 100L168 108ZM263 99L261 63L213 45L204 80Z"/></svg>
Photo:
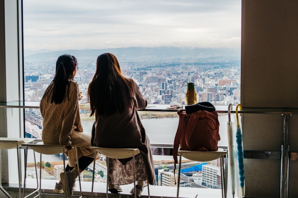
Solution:
<svg viewBox="0 0 298 198"><path fill-rule="evenodd" d="M147 107L147 100L138 85L121 74L118 59L110 53L98 56L96 71L88 87L91 115L95 115L91 144L108 148L138 148L135 156L136 195L140 196L144 181L155 183L153 158L149 139L138 115ZM131 158L109 160L109 191L122 191L119 185L130 184L133 179ZM146 174L147 173L147 174ZM134 194L134 188L130 191Z"/></svg>

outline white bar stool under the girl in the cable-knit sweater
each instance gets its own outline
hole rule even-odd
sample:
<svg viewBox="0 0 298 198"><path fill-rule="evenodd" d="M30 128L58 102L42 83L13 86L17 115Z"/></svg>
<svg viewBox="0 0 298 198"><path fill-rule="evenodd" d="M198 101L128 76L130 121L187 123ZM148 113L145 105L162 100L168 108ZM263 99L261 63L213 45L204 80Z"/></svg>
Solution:
<svg viewBox="0 0 298 198"><path fill-rule="evenodd" d="M35 192L37 192L38 194L35 197L41 197L42 195L52 195L52 196L64 196L64 195L60 195L60 194L54 194L54 193L42 193L41 192L41 155L56 155L56 154L60 154L63 153L63 167L64 167L64 181L66 181L66 174L65 174L65 148L66 145L52 145L52 144L43 144L43 142L39 142L36 144L28 144L28 143L24 143L22 144L22 146L26 146L26 159L25 159L25 178L24 178L24 190L23 190L23 198L27 198L31 195L33 195ZM34 152L38 152L40 154L40 170L39 170L39 188L38 188L38 182L37 182L37 188L34 192L31 192L29 195L25 196L25 184L26 184L26 169L27 169L27 156L28 156L28 148L31 148ZM75 147L76 149L76 153L77 153L77 147ZM34 158L35 158L35 154L34 154ZM78 156L77 156L77 167L78 170L79 169L79 163L78 163ZM36 163L35 163L35 173L36 173L36 178L37 178L37 168L36 168ZM80 178L80 174L79 174L79 184L80 184L80 194L77 195L73 195L74 197L79 197L82 198L81 194L82 194L82 189L81 189L81 178ZM65 197L67 197L67 193L66 193L66 189L65 189ZM35 198L34 197L34 198Z"/></svg>

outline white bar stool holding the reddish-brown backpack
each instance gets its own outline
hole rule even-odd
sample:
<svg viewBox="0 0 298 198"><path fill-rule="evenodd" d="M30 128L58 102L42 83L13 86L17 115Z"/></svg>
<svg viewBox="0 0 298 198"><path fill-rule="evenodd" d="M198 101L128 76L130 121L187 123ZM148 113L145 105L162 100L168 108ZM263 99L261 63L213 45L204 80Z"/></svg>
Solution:
<svg viewBox="0 0 298 198"><path fill-rule="evenodd" d="M225 197L225 174L224 174L224 156L227 154L226 151L178 151L180 155L179 160L179 171L178 171L178 185L177 185L177 198L179 198L179 186L180 186L180 172L181 172L181 159L182 156L188 160L197 162L209 162L220 158L220 171L221 171L221 195Z"/></svg>

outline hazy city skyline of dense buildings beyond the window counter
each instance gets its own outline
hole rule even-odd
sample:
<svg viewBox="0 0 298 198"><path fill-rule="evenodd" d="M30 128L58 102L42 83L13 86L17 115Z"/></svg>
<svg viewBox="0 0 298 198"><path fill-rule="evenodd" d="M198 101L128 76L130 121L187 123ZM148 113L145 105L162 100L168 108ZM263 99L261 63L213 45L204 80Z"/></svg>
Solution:
<svg viewBox="0 0 298 198"><path fill-rule="evenodd" d="M218 105L240 102L238 57L139 59L120 59L119 62L122 75L138 83L140 91L146 93L148 103L184 104L187 82L195 83L197 102L208 101ZM40 101L54 77L54 61L25 59L25 100ZM93 78L95 65L94 58L80 59L75 81L84 96L82 102L87 102L87 88ZM32 76L31 80L29 76Z"/></svg>

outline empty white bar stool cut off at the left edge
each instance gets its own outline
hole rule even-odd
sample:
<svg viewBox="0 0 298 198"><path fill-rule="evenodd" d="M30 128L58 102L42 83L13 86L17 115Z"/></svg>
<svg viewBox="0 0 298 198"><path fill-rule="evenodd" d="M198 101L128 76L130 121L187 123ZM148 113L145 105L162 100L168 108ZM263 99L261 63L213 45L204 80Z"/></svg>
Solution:
<svg viewBox="0 0 298 198"><path fill-rule="evenodd" d="M21 198L21 184L22 184L22 179L21 179L21 174L20 174L20 159L19 159L19 147L21 146L21 144L23 143L29 143L29 142L33 142L34 138L0 138L0 154L1 154L1 150L5 149L5 150L9 150L9 149L17 149L17 159L18 159L18 176L19 176L19 197ZM2 175L1 175L1 156L0 156L0 185L1 185L1 179L2 179Z"/></svg>

